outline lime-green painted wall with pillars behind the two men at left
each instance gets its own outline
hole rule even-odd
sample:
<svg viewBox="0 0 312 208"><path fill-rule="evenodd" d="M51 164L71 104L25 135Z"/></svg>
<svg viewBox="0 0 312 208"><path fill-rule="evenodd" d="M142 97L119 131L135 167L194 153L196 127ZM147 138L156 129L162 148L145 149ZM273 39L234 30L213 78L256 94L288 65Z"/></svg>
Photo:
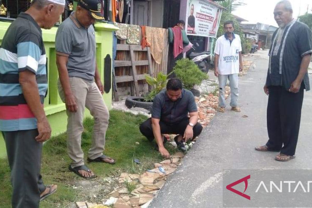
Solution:
<svg viewBox="0 0 312 208"><path fill-rule="evenodd" d="M0 44L3 36L9 27L10 22L0 22ZM95 39L96 39L96 61L100 76L104 84L104 58L107 54L112 57L112 31L118 30L108 23L96 23L95 24ZM55 34L57 27L53 27L51 30L42 30L43 41L46 48L46 56L48 58L48 94L44 100L44 109L47 118L52 128L52 135L66 131L67 116L65 111L65 104L62 103L61 98L57 90L57 67L56 67L56 54L55 54ZM111 73L111 72L110 72ZM112 90L109 93L104 93L103 99L108 107L111 109L112 104ZM90 116L88 110L85 111L85 116ZM5 144L0 134L0 157L5 157Z"/></svg>

